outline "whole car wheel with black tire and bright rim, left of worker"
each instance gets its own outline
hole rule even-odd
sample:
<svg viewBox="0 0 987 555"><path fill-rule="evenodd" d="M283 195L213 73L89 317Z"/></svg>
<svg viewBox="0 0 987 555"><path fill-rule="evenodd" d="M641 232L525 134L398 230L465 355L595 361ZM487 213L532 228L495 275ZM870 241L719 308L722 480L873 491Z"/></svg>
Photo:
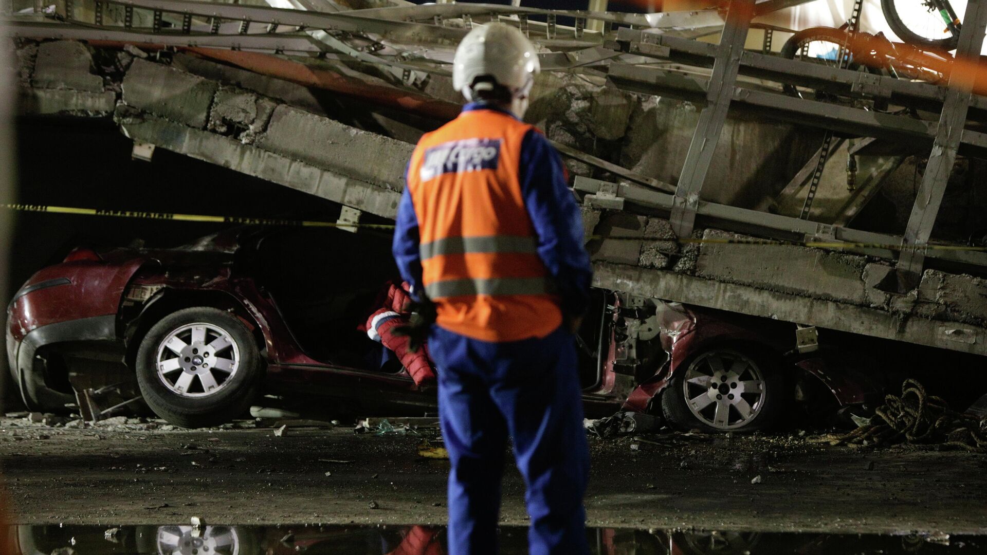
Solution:
<svg viewBox="0 0 987 555"><path fill-rule="evenodd" d="M210 307L173 312L140 342L137 384L159 417L183 428L218 426L257 397L264 363L250 330Z"/></svg>

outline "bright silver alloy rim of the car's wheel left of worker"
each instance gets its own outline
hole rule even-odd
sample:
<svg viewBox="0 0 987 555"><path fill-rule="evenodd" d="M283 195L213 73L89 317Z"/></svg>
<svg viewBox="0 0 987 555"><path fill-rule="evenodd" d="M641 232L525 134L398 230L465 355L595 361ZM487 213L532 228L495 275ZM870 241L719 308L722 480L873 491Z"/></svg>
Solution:
<svg viewBox="0 0 987 555"><path fill-rule="evenodd" d="M158 346L158 378L172 393L204 397L222 390L240 367L240 348L225 329L196 322L170 332Z"/></svg>

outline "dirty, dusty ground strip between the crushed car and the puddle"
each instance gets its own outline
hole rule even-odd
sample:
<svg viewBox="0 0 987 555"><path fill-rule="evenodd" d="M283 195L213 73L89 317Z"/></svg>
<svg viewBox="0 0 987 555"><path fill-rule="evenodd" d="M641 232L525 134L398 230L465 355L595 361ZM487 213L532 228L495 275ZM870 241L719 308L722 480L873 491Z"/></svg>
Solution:
<svg viewBox="0 0 987 555"><path fill-rule="evenodd" d="M172 429L0 420L13 521L137 525L446 521L448 461L434 428L241 421ZM71 425L71 421L68 423ZM830 445L825 436L590 436L587 523L724 532L987 533L987 456L930 446ZM937 450L940 449L940 450ZM507 464L501 522L525 525Z"/></svg>

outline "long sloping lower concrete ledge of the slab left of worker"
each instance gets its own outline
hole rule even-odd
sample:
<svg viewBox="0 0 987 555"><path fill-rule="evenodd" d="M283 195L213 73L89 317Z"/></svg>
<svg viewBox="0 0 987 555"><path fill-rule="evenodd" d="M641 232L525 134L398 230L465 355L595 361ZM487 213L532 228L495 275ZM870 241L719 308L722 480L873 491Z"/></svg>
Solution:
<svg viewBox="0 0 987 555"><path fill-rule="evenodd" d="M365 212L394 219L401 194L243 144L231 137L157 118L119 119L127 137L154 144ZM357 156L351 152L351 156Z"/></svg>

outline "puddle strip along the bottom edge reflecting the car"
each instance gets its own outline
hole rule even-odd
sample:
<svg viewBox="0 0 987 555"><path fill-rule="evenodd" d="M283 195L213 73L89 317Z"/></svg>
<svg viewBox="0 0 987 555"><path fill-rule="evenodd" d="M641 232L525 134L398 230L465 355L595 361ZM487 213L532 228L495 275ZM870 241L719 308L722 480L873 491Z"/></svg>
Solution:
<svg viewBox="0 0 987 555"><path fill-rule="evenodd" d="M13 526L10 555L444 555L440 526L181 524ZM983 553L984 536L681 532L591 528L593 555ZM500 553L527 553L527 529L500 529Z"/></svg>

